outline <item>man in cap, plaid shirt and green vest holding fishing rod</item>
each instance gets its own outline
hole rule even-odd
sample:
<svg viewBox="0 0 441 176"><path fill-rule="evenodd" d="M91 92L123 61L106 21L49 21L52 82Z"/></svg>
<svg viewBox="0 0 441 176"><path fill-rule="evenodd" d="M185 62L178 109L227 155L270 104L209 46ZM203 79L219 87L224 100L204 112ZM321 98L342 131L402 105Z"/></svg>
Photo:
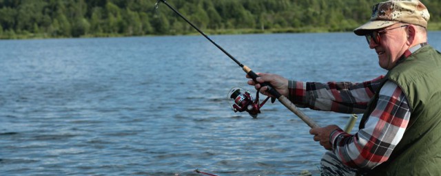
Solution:
<svg viewBox="0 0 441 176"><path fill-rule="evenodd" d="M309 131L329 150L322 175L441 175L441 54L427 44L427 21L429 12L417 0L374 5L370 21L353 32L366 36L388 72L365 83L259 74L258 83L271 83L299 107L364 113L353 135L336 125ZM268 95L258 83L248 81Z"/></svg>

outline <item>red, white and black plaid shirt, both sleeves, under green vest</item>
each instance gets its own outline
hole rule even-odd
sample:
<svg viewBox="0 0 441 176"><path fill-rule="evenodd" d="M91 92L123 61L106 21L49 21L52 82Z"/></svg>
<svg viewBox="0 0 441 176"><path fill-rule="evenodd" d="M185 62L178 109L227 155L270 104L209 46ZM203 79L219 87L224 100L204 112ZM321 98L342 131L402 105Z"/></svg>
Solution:
<svg viewBox="0 0 441 176"><path fill-rule="evenodd" d="M289 100L299 107L339 113L365 113L367 103L380 88L384 76L364 83L302 83L289 81ZM410 118L402 89L387 81L378 103L353 135L337 129L329 136L333 151L343 164L353 168L373 168L385 162L400 142Z"/></svg>

